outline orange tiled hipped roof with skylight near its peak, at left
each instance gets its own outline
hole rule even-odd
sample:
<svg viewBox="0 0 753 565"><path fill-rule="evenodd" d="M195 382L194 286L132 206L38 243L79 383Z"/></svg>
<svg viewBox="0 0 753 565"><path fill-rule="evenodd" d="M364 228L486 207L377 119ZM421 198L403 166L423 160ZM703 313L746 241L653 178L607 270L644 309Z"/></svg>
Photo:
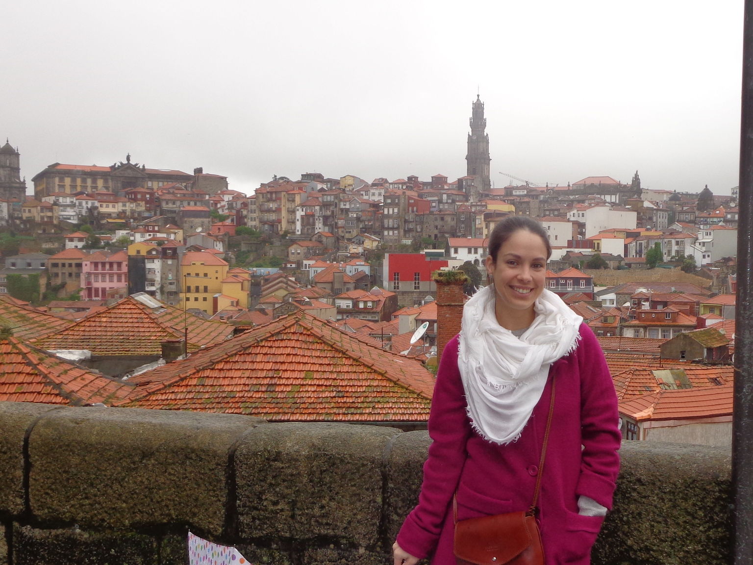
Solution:
<svg viewBox="0 0 753 565"><path fill-rule="evenodd" d="M128 297L34 344L45 350L90 350L93 355L159 356L160 342L183 337L184 321L189 351L233 333L233 327L223 322L186 315L172 306L152 309Z"/></svg>

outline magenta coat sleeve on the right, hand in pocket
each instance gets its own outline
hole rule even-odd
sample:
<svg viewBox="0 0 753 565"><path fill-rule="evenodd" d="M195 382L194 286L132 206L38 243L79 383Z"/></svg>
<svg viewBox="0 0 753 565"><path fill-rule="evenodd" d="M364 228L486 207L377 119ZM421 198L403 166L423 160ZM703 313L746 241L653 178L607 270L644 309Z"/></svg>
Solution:
<svg viewBox="0 0 753 565"><path fill-rule="evenodd" d="M599 341L585 324L581 325L578 350L583 451L576 495L588 496L611 509L620 469L617 393Z"/></svg>

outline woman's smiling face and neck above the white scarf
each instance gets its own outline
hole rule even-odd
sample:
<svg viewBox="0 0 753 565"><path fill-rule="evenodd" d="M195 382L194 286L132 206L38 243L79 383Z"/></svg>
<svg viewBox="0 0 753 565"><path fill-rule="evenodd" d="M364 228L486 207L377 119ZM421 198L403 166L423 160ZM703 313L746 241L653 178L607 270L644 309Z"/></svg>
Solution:
<svg viewBox="0 0 753 565"><path fill-rule="evenodd" d="M497 256L486 257L486 272L494 281L495 313L503 328L527 328L535 316L533 303L544 290L547 248L537 234L514 231Z"/></svg>

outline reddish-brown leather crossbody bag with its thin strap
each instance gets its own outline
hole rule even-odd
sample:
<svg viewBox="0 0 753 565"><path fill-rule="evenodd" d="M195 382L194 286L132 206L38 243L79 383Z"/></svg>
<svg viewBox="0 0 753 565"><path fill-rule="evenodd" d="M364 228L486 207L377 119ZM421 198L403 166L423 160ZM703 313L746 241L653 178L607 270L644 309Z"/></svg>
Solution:
<svg viewBox="0 0 753 565"><path fill-rule="evenodd" d="M533 502L528 510L506 512L458 521L457 496L453 496L455 519L454 551L458 565L544 565L544 548L538 530L538 492L541 475L544 474L544 458L547 454L549 430L554 412L554 384L547 417L547 429L541 446L538 476Z"/></svg>

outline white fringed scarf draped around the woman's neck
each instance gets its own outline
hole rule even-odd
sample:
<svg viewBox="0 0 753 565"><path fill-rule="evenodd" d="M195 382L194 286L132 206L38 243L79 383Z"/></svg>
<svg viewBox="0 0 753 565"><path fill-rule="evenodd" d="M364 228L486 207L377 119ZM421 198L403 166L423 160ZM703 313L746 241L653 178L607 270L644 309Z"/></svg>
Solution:
<svg viewBox="0 0 753 565"><path fill-rule="evenodd" d="M544 289L534 302L533 323L520 337L499 325L494 286L481 289L463 308L458 367L471 426L486 440L520 438L553 362L578 344L583 318Z"/></svg>

